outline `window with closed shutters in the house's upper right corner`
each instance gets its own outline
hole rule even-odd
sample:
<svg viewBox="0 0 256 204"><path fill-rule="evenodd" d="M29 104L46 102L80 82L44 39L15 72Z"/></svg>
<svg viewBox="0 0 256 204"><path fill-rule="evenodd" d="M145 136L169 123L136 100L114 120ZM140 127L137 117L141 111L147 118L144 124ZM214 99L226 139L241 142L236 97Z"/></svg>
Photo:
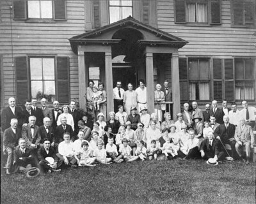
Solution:
<svg viewBox="0 0 256 204"><path fill-rule="evenodd" d="M231 1L232 25L250 27L256 25L255 0Z"/></svg>

